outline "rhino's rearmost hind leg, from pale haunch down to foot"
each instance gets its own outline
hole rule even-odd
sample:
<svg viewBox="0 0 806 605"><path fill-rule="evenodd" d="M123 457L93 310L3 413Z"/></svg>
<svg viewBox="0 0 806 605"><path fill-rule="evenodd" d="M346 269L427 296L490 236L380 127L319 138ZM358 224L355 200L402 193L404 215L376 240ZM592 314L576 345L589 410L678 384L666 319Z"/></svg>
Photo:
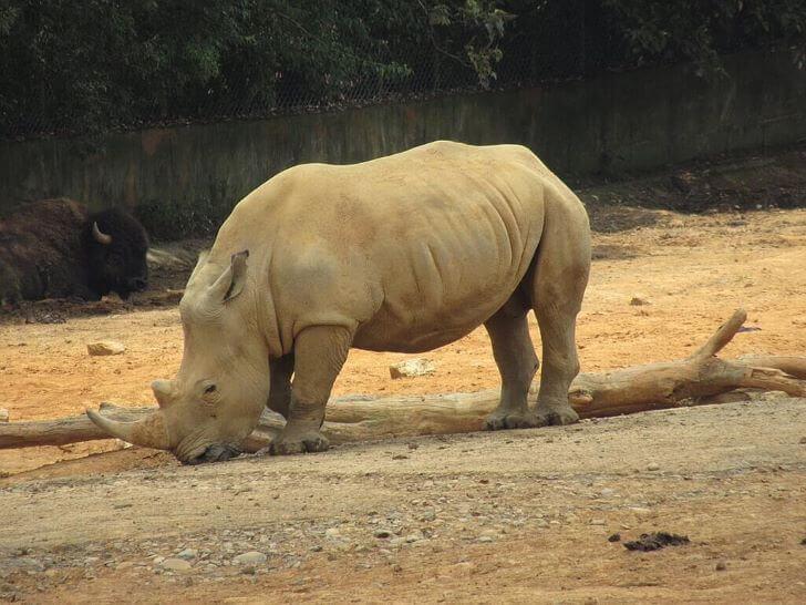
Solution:
<svg viewBox="0 0 806 605"><path fill-rule="evenodd" d="M542 342L540 390L534 410L540 427L579 420L568 402L568 388L579 373L576 325L589 270L590 230L585 211L581 205L556 204L531 276L533 307Z"/></svg>

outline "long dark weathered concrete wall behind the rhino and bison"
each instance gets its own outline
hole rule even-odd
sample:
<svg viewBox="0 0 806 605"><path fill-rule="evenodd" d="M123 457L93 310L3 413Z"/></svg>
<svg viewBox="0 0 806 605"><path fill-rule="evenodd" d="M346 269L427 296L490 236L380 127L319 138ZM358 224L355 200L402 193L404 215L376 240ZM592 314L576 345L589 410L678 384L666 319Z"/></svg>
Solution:
<svg viewBox="0 0 806 605"><path fill-rule="evenodd" d="M215 229L231 206L300 162L350 163L436 139L521 143L561 176L650 168L806 137L806 71L786 53L331 114L112 134L100 153L49 139L0 143L0 212L46 196L136 207L156 235Z"/></svg>

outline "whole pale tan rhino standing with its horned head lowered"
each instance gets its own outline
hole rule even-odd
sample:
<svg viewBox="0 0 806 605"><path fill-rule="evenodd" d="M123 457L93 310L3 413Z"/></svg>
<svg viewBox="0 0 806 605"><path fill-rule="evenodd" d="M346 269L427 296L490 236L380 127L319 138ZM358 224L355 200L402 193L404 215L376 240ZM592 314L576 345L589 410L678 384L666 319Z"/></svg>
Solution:
<svg viewBox="0 0 806 605"><path fill-rule="evenodd" d="M196 463L236 454L268 404L288 421L271 453L322 451L351 347L427 351L483 324L502 376L486 428L575 422L567 393L589 267L582 204L525 147L435 142L296 166L245 197L199 259L179 305L179 372L153 384L159 411L134 423L87 413ZM534 409L529 309L542 341Z"/></svg>

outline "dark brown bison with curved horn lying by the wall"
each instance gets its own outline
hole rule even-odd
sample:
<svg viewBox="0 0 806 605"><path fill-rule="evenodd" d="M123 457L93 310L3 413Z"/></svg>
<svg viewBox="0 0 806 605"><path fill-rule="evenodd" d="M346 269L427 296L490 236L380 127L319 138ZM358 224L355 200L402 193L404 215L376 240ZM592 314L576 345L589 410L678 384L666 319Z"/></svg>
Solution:
<svg viewBox="0 0 806 605"><path fill-rule="evenodd" d="M44 199L0 219L0 302L121 298L148 280L148 236L118 208L90 214L72 199Z"/></svg>

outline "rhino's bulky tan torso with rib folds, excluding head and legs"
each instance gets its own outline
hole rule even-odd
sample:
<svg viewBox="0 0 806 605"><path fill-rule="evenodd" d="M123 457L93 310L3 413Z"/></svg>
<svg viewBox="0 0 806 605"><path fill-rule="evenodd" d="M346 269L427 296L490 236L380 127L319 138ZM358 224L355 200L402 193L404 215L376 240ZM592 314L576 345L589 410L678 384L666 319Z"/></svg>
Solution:
<svg viewBox="0 0 806 605"><path fill-rule="evenodd" d="M451 151L298 171L269 213L269 289L287 329L348 318L359 347L414 350L509 298L539 243L546 180L528 158Z"/></svg>

